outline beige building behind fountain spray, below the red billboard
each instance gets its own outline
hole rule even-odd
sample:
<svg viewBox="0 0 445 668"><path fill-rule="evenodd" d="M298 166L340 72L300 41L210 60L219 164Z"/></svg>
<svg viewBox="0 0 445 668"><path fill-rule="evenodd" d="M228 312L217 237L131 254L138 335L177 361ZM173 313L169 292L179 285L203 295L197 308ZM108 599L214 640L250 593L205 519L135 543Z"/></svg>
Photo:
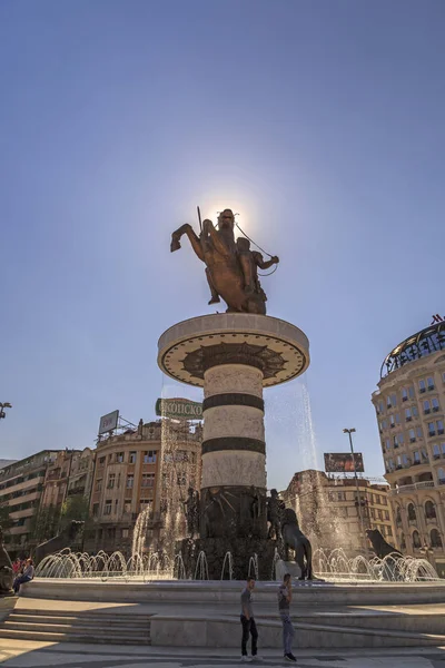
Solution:
<svg viewBox="0 0 445 668"><path fill-rule="evenodd" d="M388 485L358 478L358 491L359 498L354 478L308 470L295 473L280 497L296 511L313 549L343 548L355 557L370 548L366 529L378 529L388 542L394 540Z"/></svg>

